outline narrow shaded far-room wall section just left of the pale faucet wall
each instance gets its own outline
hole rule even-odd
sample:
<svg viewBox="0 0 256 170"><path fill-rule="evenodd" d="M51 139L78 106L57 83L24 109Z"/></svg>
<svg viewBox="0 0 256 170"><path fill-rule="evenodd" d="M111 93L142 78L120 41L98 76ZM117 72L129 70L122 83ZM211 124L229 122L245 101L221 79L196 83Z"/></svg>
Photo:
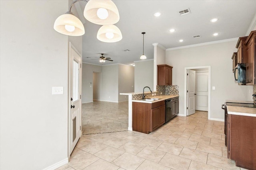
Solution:
<svg viewBox="0 0 256 170"><path fill-rule="evenodd" d="M118 65L118 102L128 101L128 96L120 93L134 92L134 67Z"/></svg>

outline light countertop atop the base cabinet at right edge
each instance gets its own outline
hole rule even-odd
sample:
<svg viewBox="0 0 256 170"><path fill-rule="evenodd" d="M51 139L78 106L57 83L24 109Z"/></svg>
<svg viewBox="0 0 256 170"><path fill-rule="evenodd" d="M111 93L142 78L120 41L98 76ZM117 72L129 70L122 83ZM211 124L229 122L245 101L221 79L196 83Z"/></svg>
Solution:
<svg viewBox="0 0 256 170"><path fill-rule="evenodd" d="M228 114L256 117L256 107L227 106Z"/></svg>

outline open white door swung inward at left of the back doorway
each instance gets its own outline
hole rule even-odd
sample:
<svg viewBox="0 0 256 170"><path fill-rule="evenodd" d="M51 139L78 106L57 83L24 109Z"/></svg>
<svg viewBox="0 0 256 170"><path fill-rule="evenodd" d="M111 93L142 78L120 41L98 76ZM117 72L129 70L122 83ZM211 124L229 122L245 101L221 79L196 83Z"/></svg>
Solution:
<svg viewBox="0 0 256 170"><path fill-rule="evenodd" d="M192 115L196 112L196 71L188 70L187 76L187 115Z"/></svg>

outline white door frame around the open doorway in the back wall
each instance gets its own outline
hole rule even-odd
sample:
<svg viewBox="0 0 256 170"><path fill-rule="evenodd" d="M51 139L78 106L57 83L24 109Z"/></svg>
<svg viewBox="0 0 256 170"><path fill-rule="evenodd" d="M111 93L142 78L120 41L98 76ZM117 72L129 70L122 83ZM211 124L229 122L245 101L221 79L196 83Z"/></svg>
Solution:
<svg viewBox="0 0 256 170"><path fill-rule="evenodd" d="M208 119L211 117L211 66L185 67L184 71L184 115L187 115L187 72L188 70L208 68Z"/></svg>

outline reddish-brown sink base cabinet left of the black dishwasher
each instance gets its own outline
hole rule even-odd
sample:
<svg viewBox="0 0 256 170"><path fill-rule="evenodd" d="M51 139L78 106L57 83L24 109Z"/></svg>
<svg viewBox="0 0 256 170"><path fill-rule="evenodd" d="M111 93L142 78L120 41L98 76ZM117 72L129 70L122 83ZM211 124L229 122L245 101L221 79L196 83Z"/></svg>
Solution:
<svg viewBox="0 0 256 170"><path fill-rule="evenodd" d="M165 123L165 100L160 102L132 102L132 130L150 133Z"/></svg>

